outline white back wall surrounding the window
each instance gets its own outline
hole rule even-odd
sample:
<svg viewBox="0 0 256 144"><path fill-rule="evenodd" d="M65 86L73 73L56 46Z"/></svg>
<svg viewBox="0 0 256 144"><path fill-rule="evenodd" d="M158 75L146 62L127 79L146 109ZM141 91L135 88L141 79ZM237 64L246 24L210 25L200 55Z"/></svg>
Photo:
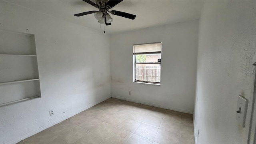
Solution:
<svg viewBox="0 0 256 144"><path fill-rule="evenodd" d="M151 42L162 42L161 86L133 82L132 45ZM197 47L198 20L112 34L112 97L192 113Z"/></svg>

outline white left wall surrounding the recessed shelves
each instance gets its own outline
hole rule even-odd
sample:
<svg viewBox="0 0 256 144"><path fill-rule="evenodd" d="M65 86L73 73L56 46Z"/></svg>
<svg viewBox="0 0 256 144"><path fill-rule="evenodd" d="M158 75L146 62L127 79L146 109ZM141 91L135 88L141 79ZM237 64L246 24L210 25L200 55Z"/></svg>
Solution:
<svg viewBox="0 0 256 144"><path fill-rule="evenodd" d="M108 34L5 1L1 29L35 34L42 94L1 107L1 144L22 140L110 97Z"/></svg>

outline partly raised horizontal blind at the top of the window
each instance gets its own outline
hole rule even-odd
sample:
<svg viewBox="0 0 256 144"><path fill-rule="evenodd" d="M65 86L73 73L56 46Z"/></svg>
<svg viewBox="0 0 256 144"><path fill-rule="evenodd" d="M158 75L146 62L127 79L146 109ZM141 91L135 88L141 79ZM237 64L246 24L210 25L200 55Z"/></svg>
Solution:
<svg viewBox="0 0 256 144"><path fill-rule="evenodd" d="M133 54L160 54L161 42L133 45Z"/></svg>

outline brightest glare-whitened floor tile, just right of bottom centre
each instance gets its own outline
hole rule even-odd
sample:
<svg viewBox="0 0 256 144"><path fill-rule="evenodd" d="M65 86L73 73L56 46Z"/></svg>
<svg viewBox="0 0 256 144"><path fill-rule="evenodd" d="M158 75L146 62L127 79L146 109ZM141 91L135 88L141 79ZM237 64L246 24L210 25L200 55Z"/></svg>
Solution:
<svg viewBox="0 0 256 144"><path fill-rule="evenodd" d="M140 124L140 126L137 128L134 134L137 134L139 136L142 136L150 140L154 140L157 131L158 131L158 128L154 126L150 126L147 124Z"/></svg>

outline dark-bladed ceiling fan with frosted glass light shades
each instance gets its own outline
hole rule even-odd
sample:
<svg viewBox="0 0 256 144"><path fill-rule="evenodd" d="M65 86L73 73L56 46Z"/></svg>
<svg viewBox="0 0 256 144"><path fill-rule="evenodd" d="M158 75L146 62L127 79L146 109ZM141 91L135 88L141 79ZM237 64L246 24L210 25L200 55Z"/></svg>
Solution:
<svg viewBox="0 0 256 144"><path fill-rule="evenodd" d="M106 24L106 26L111 25L111 22L113 22L113 18L108 14L116 15L116 16L122 16L124 18L130 18L132 20L135 19L136 15L134 14L128 14L126 12L120 12L117 10L111 10L109 9L113 8L123 0L97 0L96 4L90 0L83 0L84 2L87 2L88 4L94 6L95 8L98 8L99 11L93 10L93 11L88 11L88 12L82 12L79 14L74 14L74 16L84 16L86 14L93 14L94 17L98 20L100 24Z"/></svg>

